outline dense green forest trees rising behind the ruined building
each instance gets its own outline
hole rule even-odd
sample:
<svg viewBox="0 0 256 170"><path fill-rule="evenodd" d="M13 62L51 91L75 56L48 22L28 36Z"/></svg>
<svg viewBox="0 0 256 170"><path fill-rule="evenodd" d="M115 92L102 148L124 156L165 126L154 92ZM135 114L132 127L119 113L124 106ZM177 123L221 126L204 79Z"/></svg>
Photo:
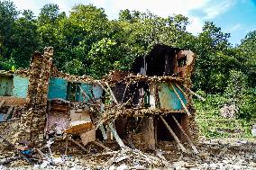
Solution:
<svg viewBox="0 0 256 170"><path fill-rule="evenodd" d="M29 67L35 50L52 46L59 70L100 78L112 69L129 69L156 43L191 49L197 54L193 89L207 94L211 107L234 103L236 118L251 120L256 114L256 31L233 47L230 34L213 22L206 22L197 36L187 31L188 24L180 14L162 18L129 10L109 20L104 9L91 4L78 4L69 14L46 4L34 16L0 1L0 69Z"/></svg>

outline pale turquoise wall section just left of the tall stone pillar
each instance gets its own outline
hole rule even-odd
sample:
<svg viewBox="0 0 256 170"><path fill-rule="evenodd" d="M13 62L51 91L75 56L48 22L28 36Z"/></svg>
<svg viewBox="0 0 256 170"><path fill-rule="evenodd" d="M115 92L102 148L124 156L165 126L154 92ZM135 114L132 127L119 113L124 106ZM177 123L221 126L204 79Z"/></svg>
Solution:
<svg viewBox="0 0 256 170"><path fill-rule="evenodd" d="M29 88L29 78L25 76L14 75L13 95L20 98L26 98Z"/></svg>

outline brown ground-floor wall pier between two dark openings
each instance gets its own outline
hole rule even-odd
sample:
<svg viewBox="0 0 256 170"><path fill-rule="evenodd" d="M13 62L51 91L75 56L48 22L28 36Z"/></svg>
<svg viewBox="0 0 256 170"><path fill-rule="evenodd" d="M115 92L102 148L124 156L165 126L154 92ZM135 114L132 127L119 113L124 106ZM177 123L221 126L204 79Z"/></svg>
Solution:
<svg viewBox="0 0 256 170"><path fill-rule="evenodd" d="M143 117L142 140L145 142L145 148L155 149L156 140L153 117Z"/></svg>

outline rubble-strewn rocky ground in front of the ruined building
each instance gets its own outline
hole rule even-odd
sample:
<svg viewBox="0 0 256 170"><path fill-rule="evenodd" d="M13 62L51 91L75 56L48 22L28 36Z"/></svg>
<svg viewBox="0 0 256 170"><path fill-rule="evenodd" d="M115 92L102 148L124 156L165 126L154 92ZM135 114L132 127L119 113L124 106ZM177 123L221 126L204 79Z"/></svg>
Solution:
<svg viewBox="0 0 256 170"><path fill-rule="evenodd" d="M187 148L189 148L187 146ZM180 170L256 170L256 141L241 139L205 140L197 144L199 154L181 153L175 143L162 142L156 151L142 153L139 150L123 149L91 155L55 156L39 165L31 166L17 160L5 169L180 169ZM0 162L14 153L0 154ZM51 165L50 165L51 164Z"/></svg>

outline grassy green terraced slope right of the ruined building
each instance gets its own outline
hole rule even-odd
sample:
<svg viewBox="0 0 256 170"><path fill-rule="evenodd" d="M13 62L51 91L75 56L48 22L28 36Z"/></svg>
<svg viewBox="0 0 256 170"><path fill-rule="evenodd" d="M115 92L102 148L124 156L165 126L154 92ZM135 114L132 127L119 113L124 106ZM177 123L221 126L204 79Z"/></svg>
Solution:
<svg viewBox="0 0 256 170"><path fill-rule="evenodd" d="M242 101L239 107L239 115L236 119L224 118L220 115L220 108L224 103L229 102L229 98L225 98L221 94L205 94L198 91L206 98L206 102L194 100L197 110L196 121L199 126L201 135L206 138L251 138L251 124L255 122L255 117L251 119L241 119L241 115L255 112L255 104L249 104ZM252 96L251 96L252 97ZM250 98L246 97L251 101ZM253 98L255 103L255 97ZM253 102L253 101L251 101Z"/></svg>

